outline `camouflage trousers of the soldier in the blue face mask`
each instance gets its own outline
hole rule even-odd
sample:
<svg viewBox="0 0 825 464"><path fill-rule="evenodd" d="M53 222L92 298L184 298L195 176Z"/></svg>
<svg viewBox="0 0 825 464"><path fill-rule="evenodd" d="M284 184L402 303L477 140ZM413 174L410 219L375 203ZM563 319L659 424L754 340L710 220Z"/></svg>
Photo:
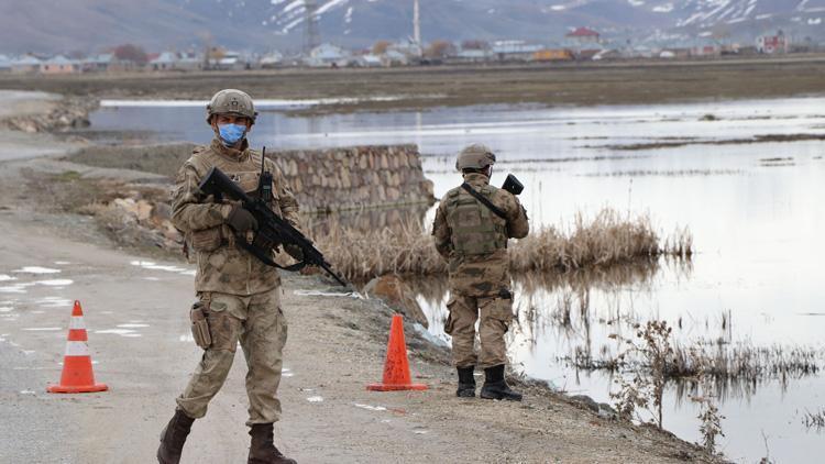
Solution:
<svg viewBox="0 0 825 464"><path fill-rule="evenodd" d="M206 416L209 400L229 375L240 341L248 367L250 418L246 424L276 422L280 417L276 393L287 332L280 310L280 287L249 297L219 292L198 296L206 307L212 342L205 350L189 385L177 398L178 407L191 418Z"/></svg>

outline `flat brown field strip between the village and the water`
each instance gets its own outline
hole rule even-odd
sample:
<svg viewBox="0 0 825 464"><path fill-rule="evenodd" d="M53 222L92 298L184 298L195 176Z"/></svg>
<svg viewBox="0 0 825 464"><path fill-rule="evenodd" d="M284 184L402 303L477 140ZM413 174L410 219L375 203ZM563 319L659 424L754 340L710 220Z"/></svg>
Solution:
<svg viewBox="0 0 825 464"><path fill-rule="evenodd" d="M283 69L0 76L0 88L89 98L208 99L235 87L254 98L349 98L312 112L492 103L644 104L778 98L825 91L825 56L388 69ZM392 97L391 100L369 99Z"/></svg>

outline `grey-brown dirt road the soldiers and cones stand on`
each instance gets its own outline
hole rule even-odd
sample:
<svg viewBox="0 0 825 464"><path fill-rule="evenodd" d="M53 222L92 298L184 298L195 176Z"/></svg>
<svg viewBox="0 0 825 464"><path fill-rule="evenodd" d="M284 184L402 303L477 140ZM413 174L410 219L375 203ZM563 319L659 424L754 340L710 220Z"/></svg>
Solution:
<svg viewBox="0 0 825 464"><path fill-rule="evenodd" d="M21 186L22 173L61 172L66 162L54 156L65 146L48 135L9 135L0 133L0 462L153 462L160 430L200 356L187 316L193 266L148 262L114 247L91 219L43 208L44 199ZM20 146L32 148L10 156ZM366 391L381 377L392 311L337 296L318 277L287 275L283 289L289 340L276 434L299 462L710 461L668 433L602 418L538 386L524 387L521 404L460 400L446 350L409 323L413 373L430 389ZM74 299L84 303L96 376L108 393L45 394L59 378ZM184 462L245 459L240 351L237 364L196 422Z"/></svg>

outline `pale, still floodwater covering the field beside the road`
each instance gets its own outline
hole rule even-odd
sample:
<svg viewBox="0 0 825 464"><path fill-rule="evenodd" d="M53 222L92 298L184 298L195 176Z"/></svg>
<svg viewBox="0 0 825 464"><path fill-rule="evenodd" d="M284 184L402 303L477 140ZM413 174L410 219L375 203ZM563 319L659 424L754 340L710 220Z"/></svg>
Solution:
<svg viewBox="0 0 825 464"><path fill-rule="evenodd" d="M696 252L690 262L518 276L518 322L508 336L514 366L526 375L610 401L615 374L580 367L615 356L610 335L629 336L634 323L652 319L673 327L682 347L761 352L768 364L802 353L825 365L825 99L318 118L284 113L312 102L270 103L251 135L257 146L416 143L441 196L460 181L454 153L482 142L501 161L494 184L507 173L525 184L521 200L534 224L566 227L578 213L609 207L649 216L661 236L690 229ZM138 131L128 141L211 136L202 107L157 102L106 106L92 114L88 135L116 142L124 131ZM438 281L416 287L430 331L448 340L446 288ZM815 369L766 368L744 379L719 388L721 451L737 462L766 456L766 442L778 462L825 452L822 431L805 426L806 413L825 406L825 379ZM698 406L689 390L668 384L663 424L697 441Z"/></svg>

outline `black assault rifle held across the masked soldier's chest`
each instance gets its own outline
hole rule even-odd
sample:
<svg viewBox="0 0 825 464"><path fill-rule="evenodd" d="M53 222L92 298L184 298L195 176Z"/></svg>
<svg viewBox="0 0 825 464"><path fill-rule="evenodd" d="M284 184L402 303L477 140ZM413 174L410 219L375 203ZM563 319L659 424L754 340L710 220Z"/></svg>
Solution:
<svg viewBox="0 0 825 464"><path fill-rule="evenodd" d="M239 236L238 243L264 264L289 272L300 270L306 265L318 266L326 270L330 277L336 279L336 281L343 287L350 287L343 277L332 270L332 266L327 263L323 254L312 245L312 242L304 236L299 230L295 229L293 224L275 214L275 212L268 207L267 200L263 197L250 197L238 184L233 183L232 179L227 177L227 175L217 167L209 169L209 173L200 183L199 187L201 191L206 195L212 195L218 201L224 197L240 201L243 205L243 208L255 217L255 220L257 220L257 230L255 231L254 239L250 243L246 241L245 236ZM264 192L265 189L261 189L261 191ZM270 198L272 198L272 196L270 196ZM272 250L279 244L299 247L304 254L304 259L300 263L290 266L280 266L275 263L272 259Z"/></svg>

